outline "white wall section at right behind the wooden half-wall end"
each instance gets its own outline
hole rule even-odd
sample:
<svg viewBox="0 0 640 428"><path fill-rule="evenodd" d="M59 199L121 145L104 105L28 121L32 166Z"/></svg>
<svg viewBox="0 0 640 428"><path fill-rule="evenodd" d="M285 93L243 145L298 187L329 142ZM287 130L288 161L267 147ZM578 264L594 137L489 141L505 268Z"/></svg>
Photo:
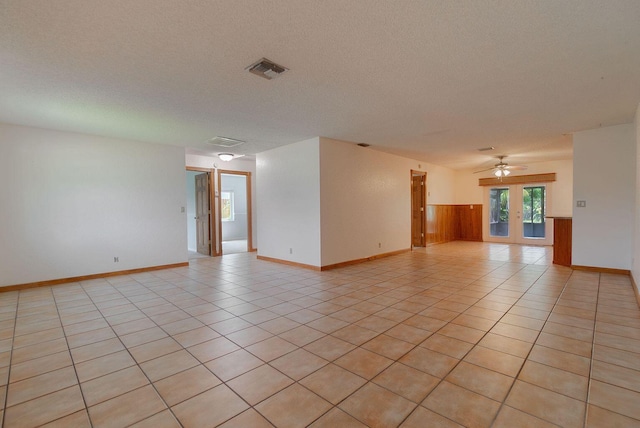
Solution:
<svg viewBox="0 0 640 428"><path fill-rule="evenodd" d="M633 124L573 136L572 263L631 269L636 199L636 130Z"/></svg>

